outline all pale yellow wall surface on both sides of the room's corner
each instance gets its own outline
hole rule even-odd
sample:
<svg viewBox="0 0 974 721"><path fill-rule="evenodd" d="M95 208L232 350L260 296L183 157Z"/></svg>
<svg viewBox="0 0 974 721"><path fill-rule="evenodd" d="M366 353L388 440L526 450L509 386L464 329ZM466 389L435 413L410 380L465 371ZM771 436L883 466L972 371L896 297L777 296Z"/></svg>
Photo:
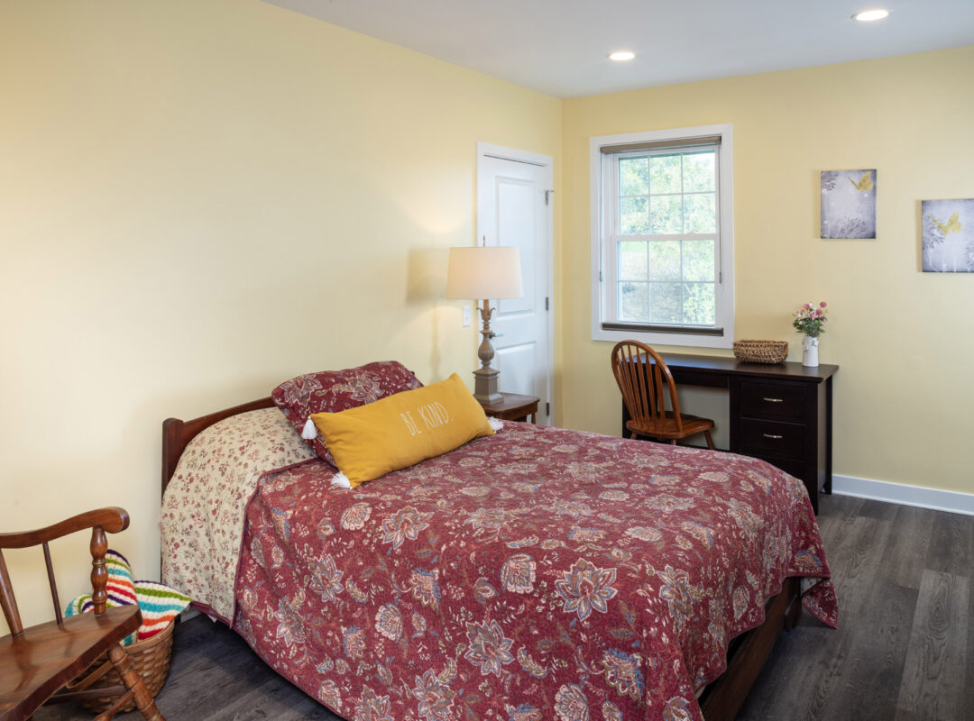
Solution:
<svg viewBox="0 0 974 721"><path fill-rule="evenodd" d="M557 420L617 433L588 138L715 123L734 126L738 338L795 359L789 312L827 300L836 472L974 492L974 277L923 274L918 249L920 198L974 197L972 85L965 48L559 101L256 0L10 0L0 528L119 504L113 546L154 576L166 416L379 358L472 368L442 295L478 140L555 158ZM819 171L858 167L879 169L880 238L817 239ZM56 544L65 600L85 545ZM28 622L50 616L37 558L9 558Z"/></svg>

